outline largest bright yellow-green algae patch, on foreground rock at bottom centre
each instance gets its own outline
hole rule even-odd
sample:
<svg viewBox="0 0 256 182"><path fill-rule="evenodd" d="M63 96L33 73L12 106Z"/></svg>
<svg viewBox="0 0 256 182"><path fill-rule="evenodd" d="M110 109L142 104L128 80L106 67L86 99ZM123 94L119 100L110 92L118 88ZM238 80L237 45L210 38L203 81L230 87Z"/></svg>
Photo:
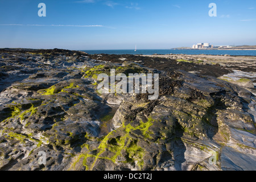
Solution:
<svg viewBox="0 0 256 182"><path fill-rule="evenodd" d="M92 170L97 159L106 159L116 163L118 161L118 156L123 156L122 154L125 153L126 155L123 156L125 160L118 162L134 163L142 169L144 164L144 149L139 146L138 139L134 139L130 136L130 132L134 130L141 130L144 138L150 138L148 129L153 125L153 123L154 119L152 118L148 118L147 122L141 122L140 125L136 127L131 126L131 123L128 125L123 123L123 125L117 130L113 130L106 135L101 140L99 146L92 151L89 150L88 144L84 144L82 147L86 147L89 151L80 155L76 162L73 163L73 167L75 167L76 163L83 158L82 165L85 166L86 170ZM117 136L118 133L122 133L122 135ZM106 151L111 152L112 155L105 156L104 153ZM88 165L88 159L93 159L93 163L91 165Z"/></svg>

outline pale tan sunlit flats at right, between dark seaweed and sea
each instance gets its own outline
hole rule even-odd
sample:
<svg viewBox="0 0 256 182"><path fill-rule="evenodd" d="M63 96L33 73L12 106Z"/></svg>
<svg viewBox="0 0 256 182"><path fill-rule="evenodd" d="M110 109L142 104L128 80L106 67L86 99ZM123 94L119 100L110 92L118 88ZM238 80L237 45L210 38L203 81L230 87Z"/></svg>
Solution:
<svg viewBox="0 0 256 182"><path fill-rule="evenodd" d="M152 58L162 58L177 60L177 63L185 62L191 64L203 64L212 65L208 71L220 70L214 69L217 65L221 65L221 69L226 69L231 71L225 73L222 76L217 76L218 78L232 82L233 84L240 85L242 87L247 87L256 96L256 56L230 56L230 55L142 55L144 57ZM196 66L195 66L196 68ZM195 69L191 71L195 73L200 73L200 69ZM242 82L241 79L244 79ZM247 81L247 82L246 82Z"/></svg>

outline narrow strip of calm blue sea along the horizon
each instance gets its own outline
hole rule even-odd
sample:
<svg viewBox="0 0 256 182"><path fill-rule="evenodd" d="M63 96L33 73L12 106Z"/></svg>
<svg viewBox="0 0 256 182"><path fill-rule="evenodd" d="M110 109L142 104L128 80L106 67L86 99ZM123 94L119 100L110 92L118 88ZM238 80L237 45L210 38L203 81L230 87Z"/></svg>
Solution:
<svg viewBox="0 0 256 182"><path fill-rule="evenodd" d="M232 55L232 56L256 56L256 50L242 50L242 51L236 51L236 50L171 50L171 49L141 49L137 50L136 52L134 50L83 50L86 53L89 54L100 54L100 53L106 53L106 54L115 54L115 55L135 55L135 54L141 54L141 55L152 55L154 53L163 54L166 55L168 53L174 53L174 54L180 54L184 53L187 55Z"/></svg>

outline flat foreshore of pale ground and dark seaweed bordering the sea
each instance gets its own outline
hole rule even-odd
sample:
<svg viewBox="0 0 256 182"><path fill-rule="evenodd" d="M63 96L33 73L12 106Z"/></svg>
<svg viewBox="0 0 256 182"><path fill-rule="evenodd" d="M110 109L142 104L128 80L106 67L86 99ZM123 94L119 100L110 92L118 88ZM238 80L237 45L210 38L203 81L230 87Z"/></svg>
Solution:
<svg viewBox="0 0 256 182"><path fill-rule="evenodd" d="M208 75L247 87L256 94L256 56L230 55L89 55L93 59L123 63L134 61L145 67L162 71L184 70ZM239 71L239 72L237 72ZM235 73L235 74L233 74ZM239 74L238 74L239 73ZM230 75L231 74L231 77ZM233 74L233 75L232 75ZM245 79L241 82L241 79ZM240 80L240 81L239 81Z"/></svg>

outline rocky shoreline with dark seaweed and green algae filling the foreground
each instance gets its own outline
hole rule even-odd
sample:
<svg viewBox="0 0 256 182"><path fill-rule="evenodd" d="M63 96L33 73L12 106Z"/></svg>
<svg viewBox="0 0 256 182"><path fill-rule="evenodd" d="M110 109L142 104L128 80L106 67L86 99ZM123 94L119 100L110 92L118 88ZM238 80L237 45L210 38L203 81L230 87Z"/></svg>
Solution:
<svg viewBox="0 0 256 182"><path fill-rule="evenodd" d="M0 55L0 170L256 170L255 57ZM158 100L99 93L112 68L159 73Z"/></svg>

